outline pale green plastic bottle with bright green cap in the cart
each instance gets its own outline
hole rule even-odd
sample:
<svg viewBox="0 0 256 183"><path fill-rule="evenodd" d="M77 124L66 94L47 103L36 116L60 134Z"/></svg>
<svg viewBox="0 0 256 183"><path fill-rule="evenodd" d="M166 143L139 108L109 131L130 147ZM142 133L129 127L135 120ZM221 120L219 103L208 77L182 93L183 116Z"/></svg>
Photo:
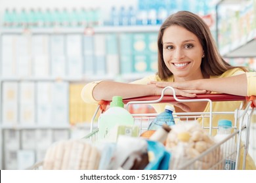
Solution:
<svg viewBox="0 0 256 183"><path fill-rule="evenodd" d="M122 97L114 96L110 108L100 114L98 119L98 136L100 139L106 137L107 133L116 125L134 125L133 116L123 106Z"/></svg>

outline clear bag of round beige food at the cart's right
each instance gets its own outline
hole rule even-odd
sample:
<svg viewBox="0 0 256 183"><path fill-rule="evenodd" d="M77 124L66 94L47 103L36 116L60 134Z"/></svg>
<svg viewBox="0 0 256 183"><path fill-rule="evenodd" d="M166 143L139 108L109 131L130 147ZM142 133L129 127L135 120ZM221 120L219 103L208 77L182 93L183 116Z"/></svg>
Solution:
<svg viewBox="0 0 256 183"><path fill-rule="evenodd" d="M166 148L172 153L171 169L184 169L185 163L198 158L205 150L215 144L213 137L202 129L197 122L182 122L173 125L166 139ZM205 154L194 163L192 169L209 169L221 159L219 148ZM221 169L221 167L214 167Z"/></svg>

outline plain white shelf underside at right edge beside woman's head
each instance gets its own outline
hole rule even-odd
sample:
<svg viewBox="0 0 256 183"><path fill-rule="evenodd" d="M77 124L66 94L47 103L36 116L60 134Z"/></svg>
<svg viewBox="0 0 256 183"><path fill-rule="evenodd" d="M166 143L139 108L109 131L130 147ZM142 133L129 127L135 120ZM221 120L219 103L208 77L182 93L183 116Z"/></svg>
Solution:
<svg viewBox="0 0 256 183"><path fill-rule="evenodd" d="M226 58L256 57L256 30L251 31L243 39L234 41L228 46L221 48L221 55Z"/></svg>

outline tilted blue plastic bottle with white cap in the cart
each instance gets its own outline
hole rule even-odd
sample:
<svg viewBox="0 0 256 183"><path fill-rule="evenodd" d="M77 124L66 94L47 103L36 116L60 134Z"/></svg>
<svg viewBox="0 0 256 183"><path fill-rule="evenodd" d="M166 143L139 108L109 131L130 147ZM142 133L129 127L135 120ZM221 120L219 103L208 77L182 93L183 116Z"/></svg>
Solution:
<svg viewBox="0 0 256 183"><path fill-rule="evenodd" d="M161 112L156 116L156 118L151 122L148 126L148 130L156 130L160 128L163 124L167 125L175 125L175 121L173 119L173 110L174 108L166 105L165 111Z"/></svg>

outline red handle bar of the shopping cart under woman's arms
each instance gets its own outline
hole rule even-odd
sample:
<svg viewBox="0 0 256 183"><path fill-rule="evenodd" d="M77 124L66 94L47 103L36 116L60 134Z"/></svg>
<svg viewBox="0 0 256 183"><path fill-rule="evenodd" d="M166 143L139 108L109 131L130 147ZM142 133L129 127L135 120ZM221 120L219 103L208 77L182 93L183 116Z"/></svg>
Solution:
<svg viewBox="0 0 256 183"><path fill-rule="evenodd" d="M254 96L255 97L255 96ZM196 97L182 97L177 96L178 99L210 99L211 101L245 101L244 96L239 95L230 95L226 93L212 93L212 94L198 94ZM123 103L128 103L130 101L154 101L160 99L160 95L150 95L150 96L144 96L144 97L133 97L129 99L123 99ZM256 99L256 97L255 97ZM107 105L110 105L111 101L100 101L98 104L100 105L100 109L103 111L106 110ZM173 103L177 102L173 95L164 95L163 99L159 103Z"/></svg>

